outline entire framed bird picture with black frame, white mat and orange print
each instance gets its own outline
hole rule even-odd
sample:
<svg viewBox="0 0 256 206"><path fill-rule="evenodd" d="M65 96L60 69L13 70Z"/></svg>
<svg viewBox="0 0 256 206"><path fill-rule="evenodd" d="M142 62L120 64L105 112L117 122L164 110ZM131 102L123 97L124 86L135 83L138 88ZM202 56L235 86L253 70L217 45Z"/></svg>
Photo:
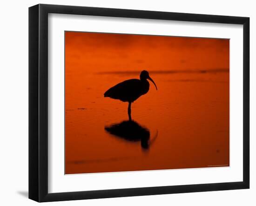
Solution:
<svg viewBox="0 0 256 206"><path fill-rule="evenodd" d="M29 8L29 198L249 188L249 18Z"/></svg>

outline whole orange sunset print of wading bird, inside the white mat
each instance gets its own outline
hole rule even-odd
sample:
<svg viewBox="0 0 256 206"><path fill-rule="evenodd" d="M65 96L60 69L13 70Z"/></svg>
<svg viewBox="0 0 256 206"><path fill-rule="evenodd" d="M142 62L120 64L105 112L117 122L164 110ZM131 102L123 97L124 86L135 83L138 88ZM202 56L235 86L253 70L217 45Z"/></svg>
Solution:
<svg viewBox="0 0 256 206"><path fill-rule="evenodd" d="M65 173L229 166L229 39L65 32Z"/></svg>

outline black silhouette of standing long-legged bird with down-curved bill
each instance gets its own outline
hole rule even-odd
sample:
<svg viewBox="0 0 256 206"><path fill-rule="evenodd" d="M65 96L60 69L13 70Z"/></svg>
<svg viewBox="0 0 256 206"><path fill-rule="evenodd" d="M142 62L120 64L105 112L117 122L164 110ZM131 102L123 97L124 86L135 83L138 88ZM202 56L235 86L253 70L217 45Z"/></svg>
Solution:
<svg viewBox="0 0 256 206"><path fill-rule="evenodd" d="M143 70L140 74L140 80L131 79L125 80L104 93L104 97L110 97L115 100L121 100L123 102L128 102L128 117L129 120L132 120L131 117L131 104L137 100L141 95L148 93L149 82L152 81L155 85L154 80L149 77L149 73L146 70ZM157 90L157 87L155 85Z"/></svg>

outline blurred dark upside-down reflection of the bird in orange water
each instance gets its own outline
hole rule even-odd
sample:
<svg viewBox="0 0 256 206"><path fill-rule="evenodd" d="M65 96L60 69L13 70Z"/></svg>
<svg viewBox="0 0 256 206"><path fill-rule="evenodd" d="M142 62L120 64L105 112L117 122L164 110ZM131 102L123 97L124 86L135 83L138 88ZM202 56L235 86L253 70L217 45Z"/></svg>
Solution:
<svg viewBox="0 0 256 206"><path fill-rule="evenodd" d="M113 124L111 126L105 126L105 130L127 141L141 141L141 148L148 150L149 146L155 141L155 137L150 140L150 132L146 127L141 126L134 120L125 120L120 123Z"/></svg>

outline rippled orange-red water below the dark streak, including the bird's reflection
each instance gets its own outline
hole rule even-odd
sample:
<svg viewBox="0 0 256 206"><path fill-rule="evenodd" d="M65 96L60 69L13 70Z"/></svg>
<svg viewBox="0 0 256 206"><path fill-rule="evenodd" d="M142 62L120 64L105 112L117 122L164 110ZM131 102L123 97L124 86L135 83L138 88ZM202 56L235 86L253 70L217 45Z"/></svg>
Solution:
<svg viewBox="0 0 256 206"><path fill-rule="evenodd" d="M140 71L70 71L67 174L229 166L229 70L149 70L158 90L132 104L133 124L128 103L103 94Z"/></svg>

